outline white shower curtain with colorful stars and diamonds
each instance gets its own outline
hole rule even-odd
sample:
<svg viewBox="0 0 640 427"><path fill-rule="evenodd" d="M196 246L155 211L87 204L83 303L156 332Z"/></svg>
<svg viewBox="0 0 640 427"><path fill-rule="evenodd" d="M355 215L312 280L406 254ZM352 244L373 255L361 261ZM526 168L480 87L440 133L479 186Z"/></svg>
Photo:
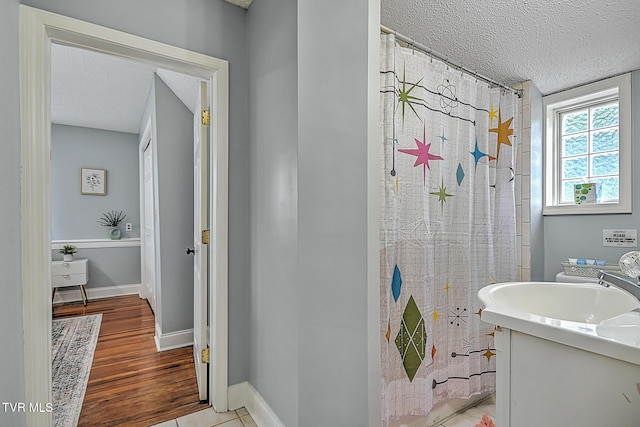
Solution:
<svg viewBox="0 0 640 427"><path fill-rule="evenodd" d="M381 36L383 424L495 390L480 288L517 278L518 97Z"/></svg>

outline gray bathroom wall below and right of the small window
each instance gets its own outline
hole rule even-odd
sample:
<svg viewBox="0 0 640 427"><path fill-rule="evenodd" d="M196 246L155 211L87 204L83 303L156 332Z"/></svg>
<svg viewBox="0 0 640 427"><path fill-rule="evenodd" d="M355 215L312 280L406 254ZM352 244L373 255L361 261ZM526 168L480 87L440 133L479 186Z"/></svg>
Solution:
<svg viewBox="0 0 640 427"><path fill-rule="evenodd" d="M632 104L632 165L640 164L640 71L631 76ZM533 101L533 100L532 100ZM540 101L541 102L541 101ZM532 103L533 106L533 103ZM633 169L633 213L617 215L556 215L544 217L545 279L555 280L562 271L560 263L569 257L604 259L617 264L620 257L637 248L609 248L602 246L603 229L640 228L640 173Z"/></svg>

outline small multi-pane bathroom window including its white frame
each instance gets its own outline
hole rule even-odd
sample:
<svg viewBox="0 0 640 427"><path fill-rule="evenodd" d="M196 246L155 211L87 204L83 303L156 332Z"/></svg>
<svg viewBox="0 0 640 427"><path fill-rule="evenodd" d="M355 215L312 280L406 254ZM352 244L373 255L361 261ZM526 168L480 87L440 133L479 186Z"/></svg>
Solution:
<svg viewBox="0 0 640 427"><path fill-rule="evenodd" d="M545 215L631 212L631 76L545 96ZM598 203L574 186L597 183Z"/></svg>

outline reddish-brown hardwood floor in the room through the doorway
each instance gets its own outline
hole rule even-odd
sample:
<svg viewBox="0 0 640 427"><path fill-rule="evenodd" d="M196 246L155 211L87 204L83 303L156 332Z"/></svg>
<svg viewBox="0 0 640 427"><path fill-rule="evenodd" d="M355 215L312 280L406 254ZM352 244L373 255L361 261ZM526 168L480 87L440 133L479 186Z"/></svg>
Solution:
<svg viewBox="0 0 640 427"><path fill-rule="evenodd" d="M137 295L55 305L54 319L102 313L78 426L150 426L207 408L192 347L157 352L154 317Z"/></svg>

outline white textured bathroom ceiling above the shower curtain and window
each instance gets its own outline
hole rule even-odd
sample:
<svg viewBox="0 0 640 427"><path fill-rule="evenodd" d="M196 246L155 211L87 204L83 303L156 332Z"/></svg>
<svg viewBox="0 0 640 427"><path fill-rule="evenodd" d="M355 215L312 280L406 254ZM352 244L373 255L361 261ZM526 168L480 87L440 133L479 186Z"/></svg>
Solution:
<svg viewBox="0 0 640 427"><path fill-rule="evenodd" d="M640 69L639 0L381 0L382 24L544 94Z"/></svg>

